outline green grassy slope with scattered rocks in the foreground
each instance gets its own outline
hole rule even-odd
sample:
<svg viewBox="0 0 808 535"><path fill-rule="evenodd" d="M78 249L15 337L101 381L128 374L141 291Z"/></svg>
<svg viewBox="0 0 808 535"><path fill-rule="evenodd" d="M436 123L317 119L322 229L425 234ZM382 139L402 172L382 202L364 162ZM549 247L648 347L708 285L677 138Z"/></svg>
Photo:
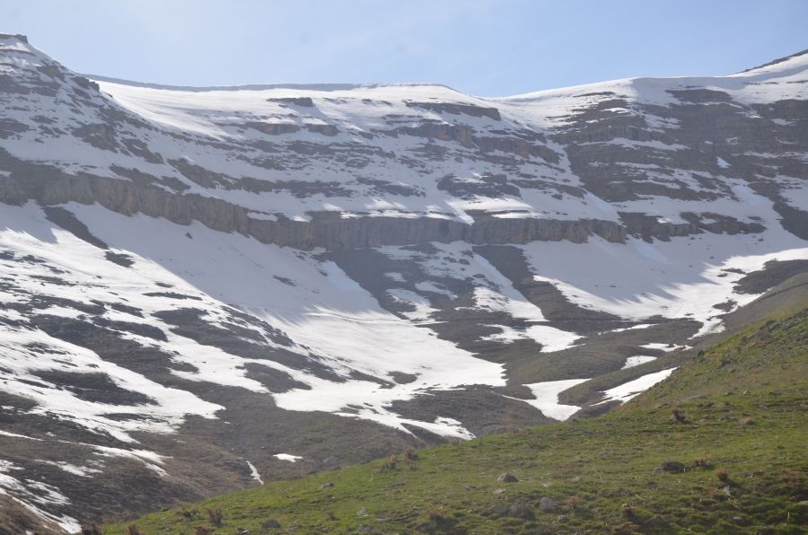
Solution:
<svg viewBox="0 0 808 535"><path fill-rule="evenodd" d="M808 533L808 504L799 503L808 500L808 309L786 309L603 417L445 444L418 451L417 460L400 454L394 468L378 460L270 483L189 506L201 512L190 522L178 508L136 523L149 535L191 533L209 524L205 507L221 507L217 533L345 533L366 524L377 533L572 534L609 533L624 522L642 533ZM709 398L676 401L694 394ZM683 423L671 418L672 405ZM687 469L654 475L665 460ZM498 483L505 471L520 480ZM334 487L318 488L327 482ZM543 496L558 511L541 513ZM531 513L487 513L495 504L526 504ZM634 513L621 513L623 504ZM667 523L643 525L654 515ZM261 530L268 518L282 527ZM107 532L125 533L125 525Z"/></svg>

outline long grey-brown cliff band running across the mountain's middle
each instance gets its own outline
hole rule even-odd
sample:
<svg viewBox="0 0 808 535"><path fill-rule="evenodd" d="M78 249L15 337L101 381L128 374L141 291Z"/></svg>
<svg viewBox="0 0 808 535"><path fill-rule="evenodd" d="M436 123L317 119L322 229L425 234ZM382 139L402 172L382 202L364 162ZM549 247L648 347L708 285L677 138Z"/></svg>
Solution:
<svg viewBox="0 0 808 535"><path fill-rule="evenodd" d="M68 202L98 203L123 215L142 213L176 224L198 221L220 232L239 232L262 243L312 250L352 250L382 245L413 245L427 241L466 241L475 245L568 240L583 243L590 236L623 242L625 227L610 221L500 218L474 214L473 224L437 217L343 218L338 212L314 212L312 221L253 219L248 210L215 197L172 193L148 183L90 174L68 175L48 165L22 162L0 152L11 176L0 175L0 201L22 205L34 199L42 205ZM187 170L186 170L187 171Z"/></svg>

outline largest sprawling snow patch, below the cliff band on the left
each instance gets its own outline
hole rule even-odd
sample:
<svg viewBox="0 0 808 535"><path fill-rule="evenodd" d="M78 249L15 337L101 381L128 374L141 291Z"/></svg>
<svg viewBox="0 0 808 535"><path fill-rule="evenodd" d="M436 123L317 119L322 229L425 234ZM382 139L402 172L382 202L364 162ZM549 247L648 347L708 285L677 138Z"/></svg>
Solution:
<svg viewBox="0 0 808 535"><path fill-rule="evenodd" d="M102 282L82 287L81 291L78 286L57 286L53 292L81 302L90 299L109 302L115 299L110 292L115 292L117 299L126 299L128 305L142 309L143 319L127 315L127 320L141 321L162 329L167 342L142 338L140 341L159 346L166 353L175 355L173 358L177 362L192 364L198 370L172 372L181 377L263 392L275 398L278 407L289 410L318 410L344 417L373 419L409 433L401 425L407 423L425 427L437 434L463 438L470 434L461 425L403 419L385 407L392 400L411 399L432 389L452 389L467 384L505 384L500 364L477 359L452 343L429 336L426 330L418 329L411 322L382 310L371 294L349 279L333 262L321 263L299 251L267 246L241 235L215 232L201 224L180 227L145 215L118 215L101 206L71 204L69 208L90 227L94 235L116 250L127 251L135 259L136 269L111 264L103 259L103 251L76 240L69 232L53 229L50 224L43 223L39 208L32 205L10 207L0 214L0 224L5 224L5 231L0 232L0 246L20 250L21 255L24 251L53 261L60 267L69 268L69 276L83 277L85 281L101 276ZM5 220L4 215L7 215ZM24 231L12 230L19 228L22 222L28 222ZM185 232L190 232L194 239L185 237ZM155 241L154 235L160 235L162 239ZM223 250L228 254L221 254ZM29 269L27 265L26 269ZM304 281L304 285L285 285L268 276L268 272L274 276ZM171 333L169 326L153 314L155 311L180 308L183 302L146 297L145 293L154 292L155 282L172 285L171 292L201 296L202 301L195 301L193 306L207 311L209 320L214 322L222 317L225 303L268 321L294 341L294 351L309 355L313 362L331 368L342 382L324 380L304 370L295 370L269 360L229 355L216 347L200 346L189 338ZM105 317L110 319L119 318L119 315L122 313L105 312ZM3 329L0 329L0 343ZM12 333L9 332L8 336L11 337ZM14 331L13 336L21 335ZM131 441L127 434L131 431L148 428L152 432L170 433L187 414L215 417L215 412L220 409L189 392L164 389L136 373L102 361L88 350L50 338L39 331L23 333L23 336L67 352L72 362L79 366L95 364L121 386L129 390L136 387L137 391L157 401L156 405L116 406L110 409L106 405L75 399L67 390L44 391L24 383L15 383L15 391L33 396L40 402L40 406L34 410L69 415L89 428L99 427L121 440ZM124 336L136 339L135 335ZM14 344L19 344L20 339L14 338L12 343L9 338L8 346L18 350L19 347ZM391 343L392 340L395 343ZM267 344L273 345L269 341ZM58 366L48 360L34 360L29 355L21 354L20 358L23 357L26 359L24 365L22 360L14 364L15 375L20 377L25 377L26 370L31 366ZM64 355L61 357L64 358ZM309 385L312 390L270 394L259 382L244 376L246 372L243 366L250 362L289 373L295 381ZM417 374L418 379L406 385L381 389L376 382L348 380L352 370L383 378L389 377L391 372L412 373ZM353 414L342 410L347 405L366 408L359 414ZM135 413L149 418L146 421L119 422L101 417L111 412Z"/></svg>

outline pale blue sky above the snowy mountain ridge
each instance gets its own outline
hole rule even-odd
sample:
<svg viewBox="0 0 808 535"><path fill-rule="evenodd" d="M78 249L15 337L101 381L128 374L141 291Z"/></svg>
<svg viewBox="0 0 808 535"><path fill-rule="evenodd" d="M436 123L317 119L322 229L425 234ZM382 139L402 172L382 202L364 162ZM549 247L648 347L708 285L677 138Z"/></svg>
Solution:
<svg viewBox="0 0 808 535"><path fill-rule="evenodd" d="M808 48L805 0L26 0L0 3L75 72L169 85L443 83L510 96L728 75Z"/></svg>

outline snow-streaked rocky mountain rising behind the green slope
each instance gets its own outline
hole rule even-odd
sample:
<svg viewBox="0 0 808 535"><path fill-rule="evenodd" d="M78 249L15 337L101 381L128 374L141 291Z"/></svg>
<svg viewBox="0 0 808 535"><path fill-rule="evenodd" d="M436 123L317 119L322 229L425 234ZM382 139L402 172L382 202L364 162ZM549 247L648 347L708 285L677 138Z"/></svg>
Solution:
<svg viewBox="0 0 808 535"><path fill-rule="evenodd" d="M10 532L602 414L808 271L805 53L503 99L0 69Z"/></svg>

